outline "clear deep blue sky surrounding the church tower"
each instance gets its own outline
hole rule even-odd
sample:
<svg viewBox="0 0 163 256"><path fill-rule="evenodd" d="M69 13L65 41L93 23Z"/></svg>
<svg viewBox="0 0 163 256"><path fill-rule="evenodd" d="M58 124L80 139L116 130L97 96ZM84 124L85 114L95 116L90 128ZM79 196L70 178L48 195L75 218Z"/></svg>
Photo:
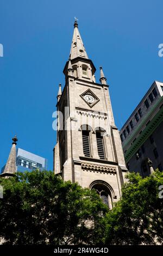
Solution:
<svg viewBox="0 0 163 256"><path fill-rule="evenodd" d="M11 138L17 147L48 159L52 169L52 113L62 70L70 53L74 16L79 19L87 54L110 85L118 129L154 80L163 81L163 2L1 0L0 167L7 161Z"/></svg>

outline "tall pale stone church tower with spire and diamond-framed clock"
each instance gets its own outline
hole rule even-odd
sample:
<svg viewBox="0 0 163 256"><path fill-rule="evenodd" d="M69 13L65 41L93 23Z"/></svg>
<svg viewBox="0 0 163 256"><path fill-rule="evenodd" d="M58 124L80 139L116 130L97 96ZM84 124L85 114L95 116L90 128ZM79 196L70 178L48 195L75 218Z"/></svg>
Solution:
<svg viewBox="0 0 163 256"><path fill-rule="evenodd" d="M121 197L127 168L120 134L112 114L109 86L102 67L87 56L74 22L70 58L65 65L65 87L58 92L58 131L54 173L62 179L95 188L109 208Z"/></svg>

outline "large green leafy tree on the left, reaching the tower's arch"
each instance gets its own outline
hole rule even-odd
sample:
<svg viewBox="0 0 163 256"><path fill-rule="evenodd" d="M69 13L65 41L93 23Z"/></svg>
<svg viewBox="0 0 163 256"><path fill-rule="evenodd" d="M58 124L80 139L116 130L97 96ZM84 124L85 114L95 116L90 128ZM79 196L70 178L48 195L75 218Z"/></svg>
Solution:
<svg viewBox="0 0 163 256"><path fill-rule="evenodd" d="M8 245L99 243L107 211L96 191L35 170L0 178L0 237ZM96 228L94 228L96 226Z"/></svg>

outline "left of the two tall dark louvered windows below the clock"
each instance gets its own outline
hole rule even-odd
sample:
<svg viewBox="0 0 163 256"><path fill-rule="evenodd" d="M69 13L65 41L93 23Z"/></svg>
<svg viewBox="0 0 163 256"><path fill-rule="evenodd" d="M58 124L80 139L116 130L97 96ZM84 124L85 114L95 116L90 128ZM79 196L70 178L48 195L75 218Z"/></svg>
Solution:
<svg viewBox="0 0 163 256"><path fill-rule="evenodd" d="M85 156L91 156L90 149L90 127L88 125L82 126L82 140L83 140L83 153Z"/></svg>

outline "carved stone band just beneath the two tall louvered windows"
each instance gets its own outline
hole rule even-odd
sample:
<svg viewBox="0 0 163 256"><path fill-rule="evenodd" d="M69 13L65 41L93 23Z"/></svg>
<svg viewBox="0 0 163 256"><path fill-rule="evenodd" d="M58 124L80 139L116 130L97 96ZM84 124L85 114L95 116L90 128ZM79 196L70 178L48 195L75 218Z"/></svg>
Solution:
<svg viewBox="0 0 163 256"><path fill-rule="evenodd" d="M82 162L81 166L83 170L116 174L116 167L114 166L102 166L100 164L92 164L92 163L85 163L85 162Z"/></svg>

